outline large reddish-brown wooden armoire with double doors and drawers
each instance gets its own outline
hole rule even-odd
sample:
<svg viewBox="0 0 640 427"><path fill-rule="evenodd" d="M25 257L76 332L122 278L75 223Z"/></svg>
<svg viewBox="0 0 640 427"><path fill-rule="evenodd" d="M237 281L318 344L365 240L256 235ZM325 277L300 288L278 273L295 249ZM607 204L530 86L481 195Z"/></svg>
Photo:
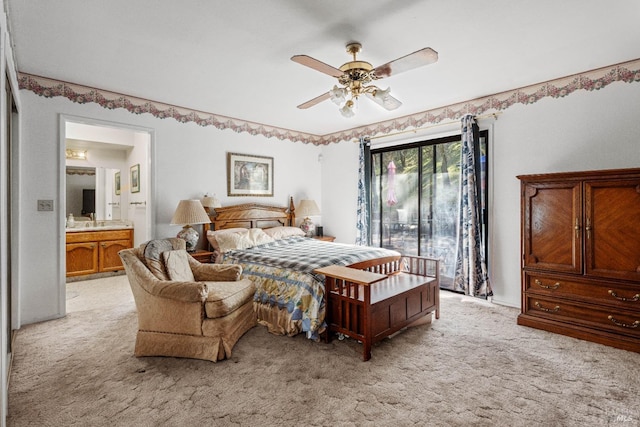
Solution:
<svg viewBox="0 0 640 427"><path fill-rule="evenodd" d="M640 169L518 179L518 324L640 352Z"/></svg>

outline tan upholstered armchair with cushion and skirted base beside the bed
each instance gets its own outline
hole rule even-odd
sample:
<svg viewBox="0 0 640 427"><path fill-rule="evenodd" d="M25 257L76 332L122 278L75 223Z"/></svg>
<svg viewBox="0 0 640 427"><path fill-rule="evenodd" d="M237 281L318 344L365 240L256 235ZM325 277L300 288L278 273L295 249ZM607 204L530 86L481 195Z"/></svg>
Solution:
<svg viewBox="0 0 640 427"><path fill-rule="evenodd" d="M182 239L119 252L138 309L135 355L216 362L256 325L255 286L238 265L201 264Z"/></svg>

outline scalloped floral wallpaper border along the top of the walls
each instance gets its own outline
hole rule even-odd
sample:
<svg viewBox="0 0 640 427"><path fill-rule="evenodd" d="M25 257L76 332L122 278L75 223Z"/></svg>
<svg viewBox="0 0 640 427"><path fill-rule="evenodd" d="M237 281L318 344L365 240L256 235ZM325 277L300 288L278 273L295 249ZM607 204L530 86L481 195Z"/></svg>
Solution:
<svg viewBox="0 0 640 427"><path fill-rule="evenodd" d="M124 108L132 114L148 113L158 119L172 118L180 123L193 122L200 126L214 126L221 130L230 129L238 133L246 132L251 135L262 135L266 138L286 139L292 142L314 145L326 145L358 139L363 135L375 136L411 129L417 130L422 126L440 123L445 120L459 120L465 114L480 115L504 111L516 104L533 104L548 97L562 98L581 89L588 91L600 90L618 81L625 83L640 82L640 59L377 122L368 126L326 135L313 135L47 77L18 73L20 89L29 90L45 98L62 96L78 104L96 103L109 110Z"/></svg>

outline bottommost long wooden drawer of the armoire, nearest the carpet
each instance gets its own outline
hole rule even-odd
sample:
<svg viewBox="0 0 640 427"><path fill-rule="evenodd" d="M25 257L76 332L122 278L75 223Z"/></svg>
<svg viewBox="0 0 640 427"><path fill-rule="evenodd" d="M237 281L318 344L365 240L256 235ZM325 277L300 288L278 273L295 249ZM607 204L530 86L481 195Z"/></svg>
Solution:
<svg viewBox="0 0 640 427"><path fill-rule="evenodd" d="M524 312L530 316L580 324L640 338L640 312L583 304L561 298L527 295Z"/></svg>

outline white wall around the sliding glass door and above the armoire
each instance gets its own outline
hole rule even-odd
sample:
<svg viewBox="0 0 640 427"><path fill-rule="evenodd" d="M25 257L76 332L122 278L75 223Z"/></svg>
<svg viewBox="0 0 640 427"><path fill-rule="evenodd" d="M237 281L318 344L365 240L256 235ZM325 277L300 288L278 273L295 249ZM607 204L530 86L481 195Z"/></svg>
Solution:
<svg viewBox="0 0 640 427"><path fill-rule="evenodd" d="M498 120L481 120L480 128L489 129L491 144L489 269L494 301L519 307L520 184L516 175L640 167L640 84L618 82L599 91L514 106ZM450 129L434 127L420 136L432 138ZM411 139L415 140L413 134ZM323 148L323 156L325 232L353 243L358 144L332 144Z"/></svg>

